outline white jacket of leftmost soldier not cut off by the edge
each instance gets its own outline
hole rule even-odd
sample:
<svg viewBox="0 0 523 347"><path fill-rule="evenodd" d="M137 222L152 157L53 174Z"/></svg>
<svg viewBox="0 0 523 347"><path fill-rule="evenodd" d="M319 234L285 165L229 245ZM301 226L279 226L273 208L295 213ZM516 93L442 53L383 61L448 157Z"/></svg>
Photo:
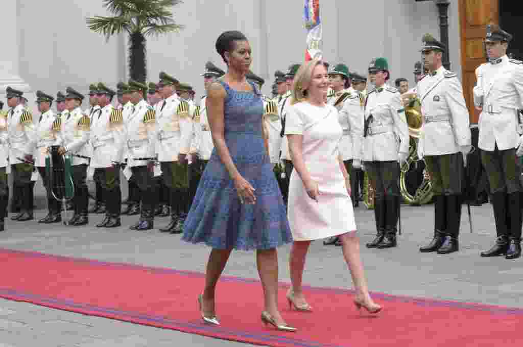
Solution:
<svg viewBox="0 0 523 347"><path fill-rule="evenodd" d="M32 115L24 106L18 105L9 110L7 116L7 132L9 134L9 164L20 164L24 158L27 144L35 133ZM18 159L20 158L20 159Z"/></svg>

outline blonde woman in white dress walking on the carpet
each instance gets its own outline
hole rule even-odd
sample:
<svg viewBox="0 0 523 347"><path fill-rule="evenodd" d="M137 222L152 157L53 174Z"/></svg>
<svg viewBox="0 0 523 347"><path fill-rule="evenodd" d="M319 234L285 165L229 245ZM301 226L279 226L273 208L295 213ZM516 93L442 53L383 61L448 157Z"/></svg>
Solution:
<svg viewBox="0 0 523 347"><path fill-rule="evenodd" d="M289 305L311 311L302 292L305 256L312 240L339 236L349 266L359 309L377 313L381 306L369 295L360 260L350 177L339 155L343 131L338 111L325 103L328 75L325 63L314 59L301 66L292 90L285 134L294 164L289 184L288 217L294 243L290 254L292 286Z"/></svg>

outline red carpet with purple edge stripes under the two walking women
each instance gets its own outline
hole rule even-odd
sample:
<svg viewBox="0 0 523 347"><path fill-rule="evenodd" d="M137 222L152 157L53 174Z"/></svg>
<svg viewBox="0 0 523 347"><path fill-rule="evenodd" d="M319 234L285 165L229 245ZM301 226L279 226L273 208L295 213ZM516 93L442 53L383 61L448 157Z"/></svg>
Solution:
<svg viewBox="0 0 523 347"><path fill-rule="evenodd" d="M200 273L3 249L0 261L0 297L220 339L300 347L491 347L523 341L523 309L374 293L384 310L359 315L349 290L308 288L315 311L300 313L289 311L285 284L282 314L299 331L277 332L261 324L259 282L237 277L223 277L218 285L222 326L213 327L202 323L197 309Z"/></svg>

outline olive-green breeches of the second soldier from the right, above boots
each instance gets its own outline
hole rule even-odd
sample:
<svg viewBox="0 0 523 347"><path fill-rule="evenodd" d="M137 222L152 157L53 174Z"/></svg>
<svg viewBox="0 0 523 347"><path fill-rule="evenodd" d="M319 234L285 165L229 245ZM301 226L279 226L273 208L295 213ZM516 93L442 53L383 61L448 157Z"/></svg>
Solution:
<svg viewBox="0 0 523 347"><path fill-rule="evenodd" d="M425 163L434 195L459 195L463 192L463 154L427 155Z"/></svg>

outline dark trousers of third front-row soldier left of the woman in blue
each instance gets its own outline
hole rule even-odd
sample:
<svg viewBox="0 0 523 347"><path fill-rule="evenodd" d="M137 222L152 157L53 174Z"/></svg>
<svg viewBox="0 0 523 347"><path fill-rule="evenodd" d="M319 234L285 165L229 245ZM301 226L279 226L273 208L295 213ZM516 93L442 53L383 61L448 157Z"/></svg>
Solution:
<svg viewBox="0 0 523 347"><path fill-rule="evenodd" d="M108 214L120 216L122 193L120 189L120 169L116 166L97 167L94 174L95 182L103 189L102 196Z"/></svg>

